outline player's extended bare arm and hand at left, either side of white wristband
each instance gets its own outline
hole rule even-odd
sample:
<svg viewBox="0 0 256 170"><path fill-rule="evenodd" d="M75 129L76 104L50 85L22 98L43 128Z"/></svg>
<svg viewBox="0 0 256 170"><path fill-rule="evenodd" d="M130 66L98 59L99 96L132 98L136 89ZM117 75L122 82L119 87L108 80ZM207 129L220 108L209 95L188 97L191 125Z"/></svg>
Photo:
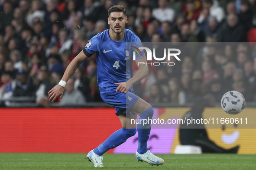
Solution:
<svg viewBox="0 0 256 170"><path fill-rule="evenodd" d="M88 57L84 54L83 51L81 51L72 61L69 63L64 75L62 76L62 80L67 82L68 79L74 74L75 70L80 66L81 63L83 63L85 60L87 60ZM62 99L64 92L64 87L61 85L55 85L52 90L48 92L49 94L49 101L55 101L56 98L60 96L60 99Z"/></svg>

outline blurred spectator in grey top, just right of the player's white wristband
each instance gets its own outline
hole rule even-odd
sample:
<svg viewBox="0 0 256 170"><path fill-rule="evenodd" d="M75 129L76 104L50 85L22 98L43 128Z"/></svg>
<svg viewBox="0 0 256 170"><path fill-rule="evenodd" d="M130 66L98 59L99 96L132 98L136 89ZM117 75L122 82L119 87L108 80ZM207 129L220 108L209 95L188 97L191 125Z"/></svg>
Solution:
<svg viewBox="0 0 256 170"><path fill-rule="evenodd" d="M60 105L68 106L68 105L84 105L85 99L81 91L74 88L75 81L73 79L69 79L64 90L65 93L60 101Z"/></svg>

